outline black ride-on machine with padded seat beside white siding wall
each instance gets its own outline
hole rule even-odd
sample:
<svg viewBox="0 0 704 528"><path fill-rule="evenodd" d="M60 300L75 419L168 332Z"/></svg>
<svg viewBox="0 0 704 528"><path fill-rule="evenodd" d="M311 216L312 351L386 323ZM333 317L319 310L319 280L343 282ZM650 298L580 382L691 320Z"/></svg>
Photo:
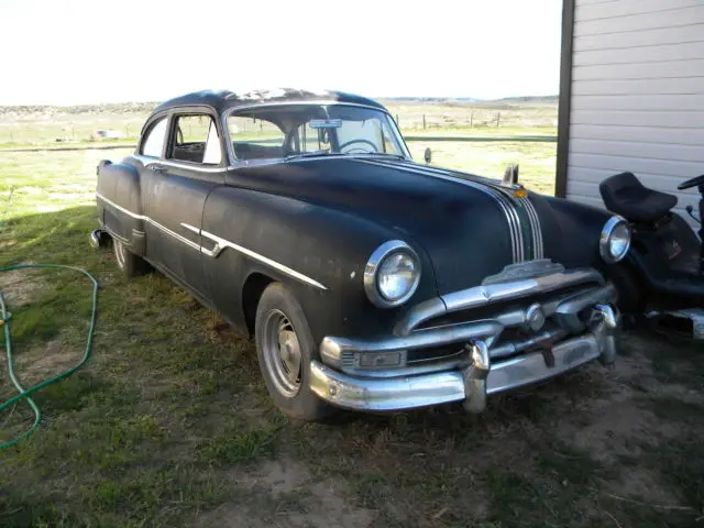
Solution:
<svg viewBox="0 0 704 528"><path fill-rule="evenodd" d="M698 218L692 206L685 210L700 224L698 237L673 211L676 196L646 187L632 173L606 178L600 191L607 209L632 230L628 256L607 271L622 309L704 340L704 175L678 189L694 187L701 195Z"/></svg>

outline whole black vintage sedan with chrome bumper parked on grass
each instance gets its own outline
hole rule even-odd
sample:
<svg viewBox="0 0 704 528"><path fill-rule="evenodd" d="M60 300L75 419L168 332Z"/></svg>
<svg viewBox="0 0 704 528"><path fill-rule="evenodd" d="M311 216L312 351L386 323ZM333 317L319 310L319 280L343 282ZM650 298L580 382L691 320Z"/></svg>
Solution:
<svg viewBox="0 0 704 528"><path fill-rule="evenodd" d="M201 91L103 161L100 229L254 336L287 415L463 402L614 361L628 224L415 163L388 111L334 91Z"/></svg>

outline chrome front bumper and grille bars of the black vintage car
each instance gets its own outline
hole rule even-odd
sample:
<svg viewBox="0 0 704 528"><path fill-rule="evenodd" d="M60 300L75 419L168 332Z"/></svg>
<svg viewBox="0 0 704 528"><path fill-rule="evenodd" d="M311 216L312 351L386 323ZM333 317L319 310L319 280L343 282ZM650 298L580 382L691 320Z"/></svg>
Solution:
<svg viewBox="0 0 704 528"><path fill-rule="evenodd" d="M483 286L483 297L491 304L492 295L497 298L506 292L506 296L508 293L515 296L518 286L543 294L546 288L558 287L564 277L560 274L560 279L554 276L539 279L540 292L529 285L530 280L504 284L499 288ZM571 275L565 279L569 286L574 286L570 283L574 278ZM473 294L463 298L474 302ZM411 314L413 322L402 321L394 336L373 341L326 338L320 351L322 362L312 361L310 365L310 388L323 400L354 410L391 411L464 402L468 410L481 411L486 407L488 395L554 377L596 359L613 363L620 331L619 314L610 304L614 298L613 286L603 280L576 294L572 290L569 295L558 295L540 307L552 321L553 330L536 332L532 339L520 343L499 342L498 337L507 328L525 327L530 309L514 307L491 319L418 328L418 321L433 317L429 314L433 309L430 305L421 306L422 317ZM442 300L438 310L447 311L453 306L448 299ZM455 302L454 306L463 309L465 305ZM405 354L447 343L465 344L464 352L450 362L405 365L397 370L364 371L359 361L351 360L364 353L400 351Z"/></svg>

